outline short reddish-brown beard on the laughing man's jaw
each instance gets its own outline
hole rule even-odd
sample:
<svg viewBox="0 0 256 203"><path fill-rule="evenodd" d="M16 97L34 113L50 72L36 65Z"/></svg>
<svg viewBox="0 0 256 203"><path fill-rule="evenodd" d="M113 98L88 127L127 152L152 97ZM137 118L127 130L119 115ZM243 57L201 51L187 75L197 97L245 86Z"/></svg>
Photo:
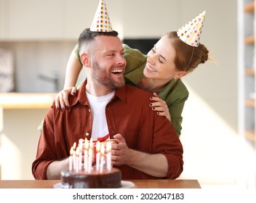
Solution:
<svg viewBox="0 0 256 203"><path fill-rule="evenodd" d="M119 66L112 66L111 68L116 67ZM108 72L103 67L100 67L100 65L95 60L92 62L92 78L94 78L98 83L112 90L124 86L124 77L118 78L118 80L113 80L111 78L111 74L113 73Z"/></svg>

